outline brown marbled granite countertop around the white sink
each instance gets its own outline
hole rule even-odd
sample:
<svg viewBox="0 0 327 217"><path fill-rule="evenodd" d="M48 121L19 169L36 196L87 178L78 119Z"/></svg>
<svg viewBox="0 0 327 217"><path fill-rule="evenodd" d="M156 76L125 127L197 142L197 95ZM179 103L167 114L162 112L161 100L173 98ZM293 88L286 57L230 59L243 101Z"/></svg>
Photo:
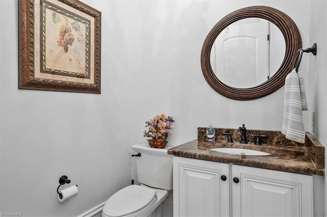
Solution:
<svg viewBox="0 0 327 217"><path fill-rule="evenodd" d="M199 130L203 129L198 128ZM268 134L271 138L275 136L275 132L272 134L267 132L265 131L265 134ZM298 174L324 175L324 147L310 133L306 133L306 144L285 143L285 145L276 145L276 141L263 145L240 144L235 141L234 143L227 143L225 140L220 140L222 138L218 138L214 142L208 142L202 139L202 135L202 133L198 133L197 140L168 149L168 154ZM271 154L253 156L226 154L209 150L219 147L252 149Z"/></svg>

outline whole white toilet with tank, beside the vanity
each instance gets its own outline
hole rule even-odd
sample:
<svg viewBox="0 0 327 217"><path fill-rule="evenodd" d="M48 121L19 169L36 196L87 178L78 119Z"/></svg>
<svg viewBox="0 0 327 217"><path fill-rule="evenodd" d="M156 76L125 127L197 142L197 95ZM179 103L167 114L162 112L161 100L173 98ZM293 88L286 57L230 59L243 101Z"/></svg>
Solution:
<svg viewBox="0 0 327 217"><path fill-rule="evenodd" d="M169 147L151 148L148 144L133 145L137 179L141 185L129 185L114 193L102 210L103 217L162 216L162 201L173 189L173 155Z"/></svg>

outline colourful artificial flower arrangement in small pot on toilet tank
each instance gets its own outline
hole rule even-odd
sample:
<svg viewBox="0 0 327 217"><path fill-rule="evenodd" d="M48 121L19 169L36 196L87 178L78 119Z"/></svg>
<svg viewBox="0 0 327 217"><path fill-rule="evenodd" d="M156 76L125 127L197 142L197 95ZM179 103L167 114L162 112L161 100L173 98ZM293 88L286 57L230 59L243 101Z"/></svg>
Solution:
<svg viewBox="0 0 327 217"><path fill-rule="evenodd" d="M157 144L159 142L164 142L166 146L168 137L172 135L171 129L173 128L174 122L173 117L167 117L164 114L156 115L150 119L150 121L146 121L145 126L149 127L149 130L144 130L144 137L151 137L151 140L148 140L149 145L151 147L156 147L153 142L156 142Z"/></svg>

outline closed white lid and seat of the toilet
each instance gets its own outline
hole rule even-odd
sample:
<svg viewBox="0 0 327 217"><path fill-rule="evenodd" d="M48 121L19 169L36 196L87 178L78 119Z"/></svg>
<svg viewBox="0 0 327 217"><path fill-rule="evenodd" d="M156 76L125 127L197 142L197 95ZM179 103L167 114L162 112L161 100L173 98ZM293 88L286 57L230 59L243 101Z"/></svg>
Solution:
<svg viewBox="0 0 327 217"><path fill-rule="evenodd" d="M129 185L113 194L105 206L104 216L137 216L151 209L157 200L156 191L152 188Z"/></svg>

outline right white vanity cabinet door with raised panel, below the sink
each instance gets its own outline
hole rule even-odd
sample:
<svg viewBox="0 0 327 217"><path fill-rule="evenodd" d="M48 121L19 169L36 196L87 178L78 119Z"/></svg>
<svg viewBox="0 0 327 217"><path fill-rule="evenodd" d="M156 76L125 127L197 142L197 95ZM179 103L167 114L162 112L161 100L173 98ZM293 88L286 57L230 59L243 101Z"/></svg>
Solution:
<svg viewBox="0 0 327 217"><path fill-rule="evenodd" d="M312 176L232 165L233 216L313 216Z"/></svg>

